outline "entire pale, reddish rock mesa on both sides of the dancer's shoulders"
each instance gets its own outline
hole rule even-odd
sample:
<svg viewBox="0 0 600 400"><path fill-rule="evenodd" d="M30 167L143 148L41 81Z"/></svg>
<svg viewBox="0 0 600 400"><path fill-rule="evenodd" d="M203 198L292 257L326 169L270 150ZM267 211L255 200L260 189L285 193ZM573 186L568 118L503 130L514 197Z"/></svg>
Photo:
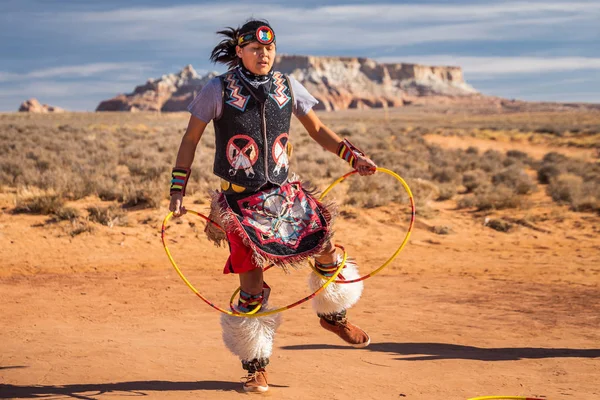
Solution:
<svg viewBox="0 0 600 400"><path fill-rule="evenodd" d="M315 109L399 107L477 96L460 67L380 64L368 58L278 55L276 70L294 76L319 100ZM101 102L96 111L184 111L206 82L191 65L178 74L149 79L132 93ZM434 100L435 99L435 100Z"/></svg>

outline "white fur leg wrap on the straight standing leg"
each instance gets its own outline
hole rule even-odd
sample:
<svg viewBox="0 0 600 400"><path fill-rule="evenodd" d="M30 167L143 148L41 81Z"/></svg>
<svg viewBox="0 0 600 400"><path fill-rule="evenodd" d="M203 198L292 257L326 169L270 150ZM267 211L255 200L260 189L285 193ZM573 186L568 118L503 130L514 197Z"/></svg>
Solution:
<svg viewBox="0 0 600 400"><path fill-rule="evenodd" d="M264 306L259 312L268 310L269 308ZM223 314L221 316L223 342L242 361L268 358L273 352L275 330L280 323L279 314L258 318L232 317Z"/></svg>

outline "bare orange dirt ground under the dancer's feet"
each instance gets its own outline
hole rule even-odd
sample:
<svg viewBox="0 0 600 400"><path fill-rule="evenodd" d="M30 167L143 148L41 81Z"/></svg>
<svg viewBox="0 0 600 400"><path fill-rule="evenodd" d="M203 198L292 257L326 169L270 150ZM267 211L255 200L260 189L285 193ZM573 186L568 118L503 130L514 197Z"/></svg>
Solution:
<svg viewBox="0 0 600 400"><path fill-rule="evenodd" d="M68 222L13 214L13 197L0 195L0 398L245 396L219 313L194 296L164 253L167 204L130 212L128 226L72 237ZM86 201L97 200L73 205ZM600 217L543 194L534 201L527 211L498 214L537 217L510 233L452 201L433 203L436 214L418 217L405 250L365 282L350 312L372 344L345 346L319 327L307 303L286 311L263 396L600 398ZM401 242L405 211L347 209L336 240L368 272ZM450 233L435 234L436 226ZM204 238L193 216L167 232L188 278L226 306L237 287L220 273L226 250ZM308 269L267 274L274 305L307 294Z"/></svg>

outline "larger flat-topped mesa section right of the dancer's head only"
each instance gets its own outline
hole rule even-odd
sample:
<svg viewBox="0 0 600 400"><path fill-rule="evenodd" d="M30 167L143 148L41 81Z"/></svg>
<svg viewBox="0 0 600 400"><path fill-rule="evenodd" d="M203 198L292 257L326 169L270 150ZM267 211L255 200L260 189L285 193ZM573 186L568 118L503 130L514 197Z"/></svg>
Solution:
<svg viewBox="0 0 600 400"><path fill-rule="evenodd" d="M315 109L398 107L422 96L471 96L460 67L380 64L368 58L277 56L275 68L293 75L318 100Z"/></svg>

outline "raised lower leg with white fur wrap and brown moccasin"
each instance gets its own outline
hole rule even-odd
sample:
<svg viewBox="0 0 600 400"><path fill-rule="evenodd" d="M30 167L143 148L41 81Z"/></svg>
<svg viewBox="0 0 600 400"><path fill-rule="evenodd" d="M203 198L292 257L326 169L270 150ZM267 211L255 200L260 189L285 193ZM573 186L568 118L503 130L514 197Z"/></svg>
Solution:
<svg viewBox="0 0 600 400"><path fill-rule="evenodd" d="M329 242L323 252L315 257L315 267L319 270L320 275L328 277L332 276L339 268L341 261L342 256L336 254L335 247ZM342 275L346 280L360 277L358 267L350 259L346 259ZM317 290L324 283L325 278L314 271L311 273L309 277L311 290ZM346 310L358 302L362 289L362 282L332 283L313 299L313 308L320 318L321 326L338 335L346 343L358 348L368 346L371 339L365 331L348 321Z"/></svg>

